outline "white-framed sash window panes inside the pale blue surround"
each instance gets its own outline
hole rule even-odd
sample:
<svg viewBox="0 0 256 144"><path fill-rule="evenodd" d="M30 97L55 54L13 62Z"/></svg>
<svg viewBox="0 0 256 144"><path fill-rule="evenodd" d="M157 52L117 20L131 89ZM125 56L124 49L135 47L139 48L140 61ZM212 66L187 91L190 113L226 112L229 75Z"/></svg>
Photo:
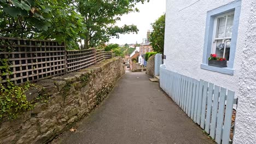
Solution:
<svg viewBox="0 0 256 144"><path fill-rule="evenodd" d="M229 61L234 11L214 19L212 52Z"/></svg>

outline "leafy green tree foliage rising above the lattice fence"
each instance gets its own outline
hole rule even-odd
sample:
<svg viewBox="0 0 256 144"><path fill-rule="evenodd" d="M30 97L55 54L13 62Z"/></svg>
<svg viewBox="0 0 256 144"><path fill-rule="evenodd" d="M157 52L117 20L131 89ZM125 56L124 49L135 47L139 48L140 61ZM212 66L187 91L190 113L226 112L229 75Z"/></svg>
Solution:
<svg viewBox="0 0 256 144"><path fill-rule="evenodd" d="M0 36L65 41L69 49L96 47L135 25L115 26L147 0L0 0Z"/></svg>

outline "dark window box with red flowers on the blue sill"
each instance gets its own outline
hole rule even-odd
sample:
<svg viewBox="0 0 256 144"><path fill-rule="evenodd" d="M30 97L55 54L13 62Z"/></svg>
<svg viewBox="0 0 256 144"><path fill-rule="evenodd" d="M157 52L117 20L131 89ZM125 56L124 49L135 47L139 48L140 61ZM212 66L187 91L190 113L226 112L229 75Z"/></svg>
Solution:
<svg viewBox="0 0 256 144"><path fill-rule="evenodd" d="M216 54L211 54L211 56L208 58L208 65L219 68L227 67L226 59L222 57L217 57Z"/></svg>

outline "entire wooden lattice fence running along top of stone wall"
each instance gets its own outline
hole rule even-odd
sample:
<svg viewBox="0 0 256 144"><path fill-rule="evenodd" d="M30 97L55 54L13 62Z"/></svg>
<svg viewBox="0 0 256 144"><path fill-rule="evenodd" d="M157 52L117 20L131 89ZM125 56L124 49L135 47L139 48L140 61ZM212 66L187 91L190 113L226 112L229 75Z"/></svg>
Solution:
<svg viewBox="0 0 256 144"><path fill-rule="evenodd" d="M65 44L57 41L0 37L0 83L48 79L113 56L96 49L66 51Z"/></svg>

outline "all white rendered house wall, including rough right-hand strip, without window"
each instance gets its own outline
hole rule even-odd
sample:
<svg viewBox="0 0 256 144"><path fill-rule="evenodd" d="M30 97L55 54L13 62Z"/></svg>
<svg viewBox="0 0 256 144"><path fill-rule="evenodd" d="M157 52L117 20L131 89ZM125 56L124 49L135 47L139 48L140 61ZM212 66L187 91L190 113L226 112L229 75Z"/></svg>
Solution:
<svg viewBox="0 0 256 144"><path fill-rule="evenodd" d="M234 75L201 69L207 11L234 0L166 1L166 69L203 79L236 93L238 97L234 143L256 141L255 0L242 0L238 25Z"/></svg>

